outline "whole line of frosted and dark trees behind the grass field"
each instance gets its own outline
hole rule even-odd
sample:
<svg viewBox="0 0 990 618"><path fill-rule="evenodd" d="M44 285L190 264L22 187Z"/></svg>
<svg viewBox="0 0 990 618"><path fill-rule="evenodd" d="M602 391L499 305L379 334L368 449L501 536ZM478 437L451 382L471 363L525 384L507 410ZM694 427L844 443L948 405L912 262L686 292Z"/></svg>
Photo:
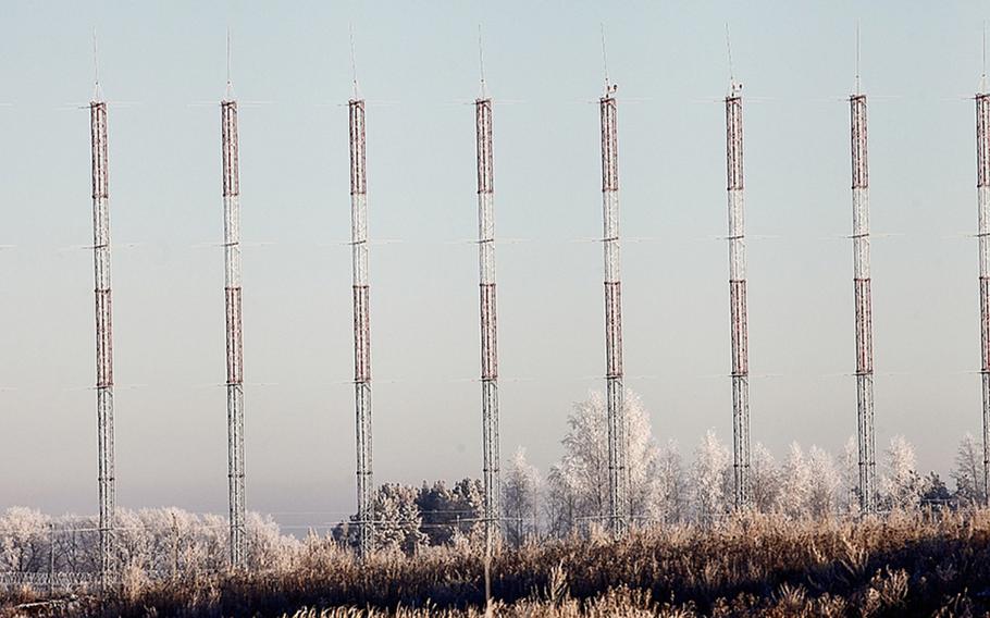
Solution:
<svg viewBox="0 0 990 618"><path fill-rule="evenodd" d="M633 526L713 523L732 511L732 457L708 431L685 459L671 441L658 444L642 400L626 396L630 511ZM564 454L545 474L518 448L503 467L503 529L508 545L550 537L592 534L605 528L608 504L606 406L591 392L573 405L561 440ZM961 440L950 486L936 472L917 469L914 448L894 436L883 449L880 500L883 510L958 509L982 504L982 456L972 435ZM752 453L752 508L788 519L820 519L857 514L857 450L853 437L833 455L792 443L778 460L762 444ZM374 499L375 543L381 552L416 554L431 546L479 543L483 490L478 479L453 485L386 483ZM330 543L346 552L355 542L356 516L326 534L309 530L286 534L270 516L247 519L247 566L284 568L312 547ZM226 518L178 508L120 509L114 548L122 574L168 578L226 569ZM0 514L0 571L95 572L98 528L94 517L50 517L12 507ZM309 548L309 549L308 549Z"/></svg>

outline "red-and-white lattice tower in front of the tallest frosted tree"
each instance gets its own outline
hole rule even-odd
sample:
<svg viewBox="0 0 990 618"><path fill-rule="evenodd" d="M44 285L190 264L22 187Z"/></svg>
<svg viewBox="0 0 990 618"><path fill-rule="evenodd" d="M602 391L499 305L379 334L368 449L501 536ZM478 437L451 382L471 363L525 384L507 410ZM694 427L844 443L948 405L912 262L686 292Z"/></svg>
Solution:
<svg viewBox="0 0 990 618"><path fill-rule="evenodd" d="M616 86L598 99L602 124L602 210L605 247L605 390L608 422L608 517L616 536L629 528L626 410L622 386L622 291L619 281L619 141Z"/></svg>

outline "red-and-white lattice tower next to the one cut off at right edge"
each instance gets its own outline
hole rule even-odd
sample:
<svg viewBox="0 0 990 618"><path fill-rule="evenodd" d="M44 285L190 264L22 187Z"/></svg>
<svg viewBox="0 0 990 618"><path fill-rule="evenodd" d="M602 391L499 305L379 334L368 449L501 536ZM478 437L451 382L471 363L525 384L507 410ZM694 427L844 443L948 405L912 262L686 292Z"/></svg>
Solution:
<svg viewBox="0 0 990 618"><path fill-rule="evenodd" d="M858 79L857 79L858 82ZM876 509L877 438L874 435L874 319L869 291L869 172L866 95L849 98L853 163L853 283L856 304L856 400L859 441L859 509Z"/></svg>

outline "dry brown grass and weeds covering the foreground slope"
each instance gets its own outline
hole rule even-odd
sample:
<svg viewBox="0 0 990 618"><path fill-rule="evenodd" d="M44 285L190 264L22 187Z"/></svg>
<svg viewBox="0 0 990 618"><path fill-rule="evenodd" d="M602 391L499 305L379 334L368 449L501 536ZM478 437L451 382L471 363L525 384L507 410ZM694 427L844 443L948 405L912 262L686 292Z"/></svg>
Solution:
<svg viewBox="0 0 990 618"><path fill-rule="evenodd" d="M508 617L985 616L990 511L855 522L747 516L709 529L638 531L620 542L573 537L503 551L493 573L492 614ZM83 616L97 611L94 603L21 613ZM104 609L126 617L480 617L483 565L470 545L362 564L313 540L277 572L169 583L135 577Z"/></svg>

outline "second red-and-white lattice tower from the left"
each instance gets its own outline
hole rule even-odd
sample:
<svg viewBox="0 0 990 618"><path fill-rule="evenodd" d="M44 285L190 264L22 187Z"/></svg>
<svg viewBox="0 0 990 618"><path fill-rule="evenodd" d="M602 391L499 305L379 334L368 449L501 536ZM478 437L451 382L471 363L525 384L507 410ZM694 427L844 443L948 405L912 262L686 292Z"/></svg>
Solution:
<svg viewBox="0 0 990 618"><path fill-rule="evenodd" d="M240 175L237 101L227 82L220 103L223 151L224 296L227 343L227 475L231 509L231 567L244 566L244 347L240 320Z"/></svg>

